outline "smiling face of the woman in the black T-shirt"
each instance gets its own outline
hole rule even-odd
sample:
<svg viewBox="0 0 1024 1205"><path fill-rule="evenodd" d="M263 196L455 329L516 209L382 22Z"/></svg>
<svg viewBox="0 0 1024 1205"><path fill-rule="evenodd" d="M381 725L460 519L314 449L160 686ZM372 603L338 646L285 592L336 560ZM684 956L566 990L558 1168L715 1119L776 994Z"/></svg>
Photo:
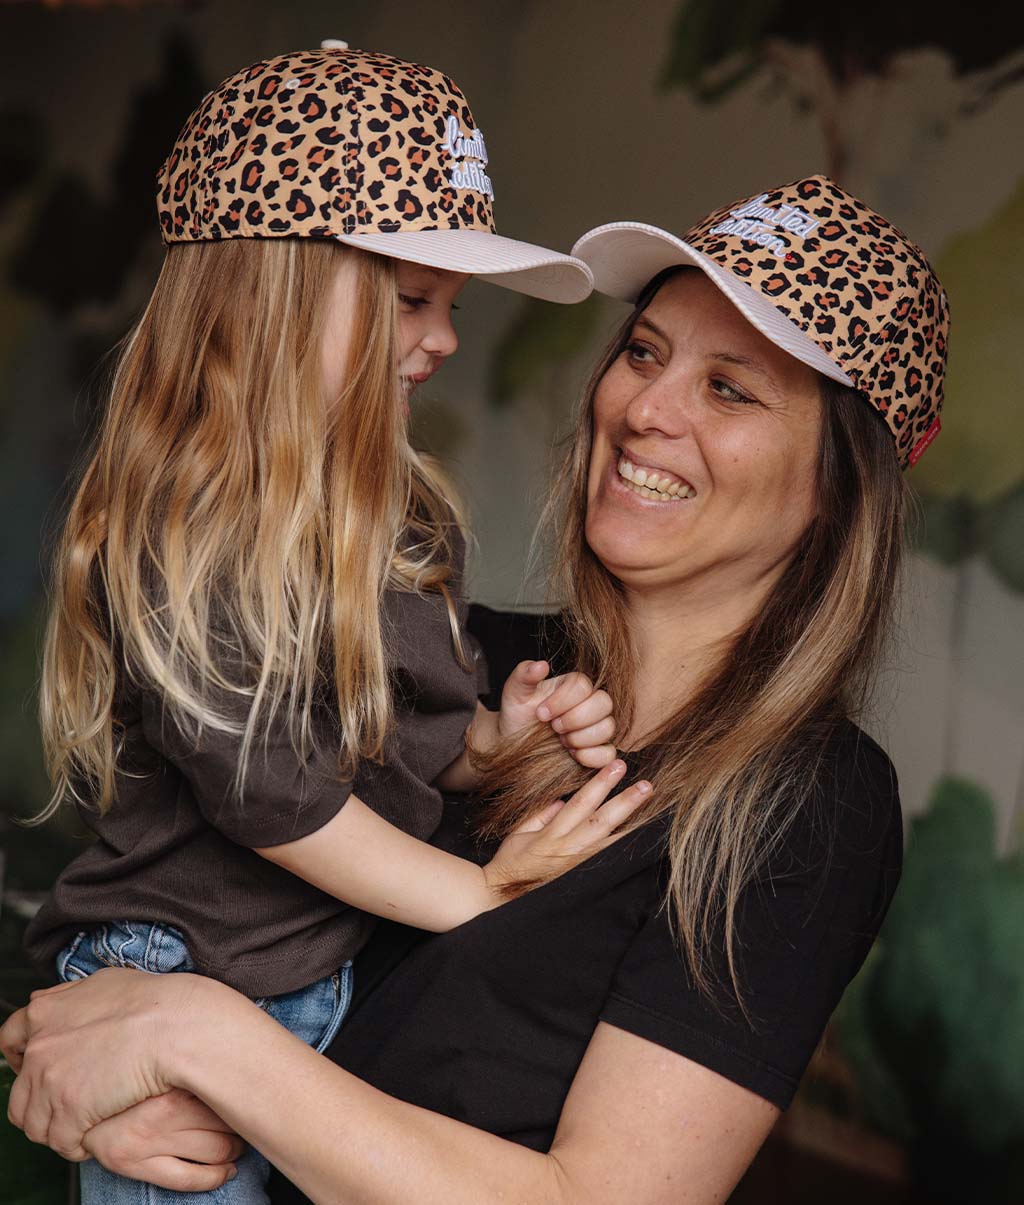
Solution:
<svg viewBox="0 0 1024 1205"><path fill-rule="evenodd" d="M817 375L701 271L636 318L593 417L587 542L606 569L643 590L781 572L814 516Z"/></svg>

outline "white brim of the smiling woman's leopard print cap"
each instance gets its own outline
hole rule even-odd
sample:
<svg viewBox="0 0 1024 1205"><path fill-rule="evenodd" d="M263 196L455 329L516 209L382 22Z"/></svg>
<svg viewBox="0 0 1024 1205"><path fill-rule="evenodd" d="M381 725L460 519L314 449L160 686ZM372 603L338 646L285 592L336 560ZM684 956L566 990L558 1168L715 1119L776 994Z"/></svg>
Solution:
<svg viewBox="0 0 1024 1205"><path fill-rule="evenodd" d="M572 254L589 264L594 288L622 301L636 301L643 287L666 268L692 264L699 268L776 347L788 352L823 376L854 388L854 382L810 335L772 302L704 252L643 222L610 222L588 230Z"/></svg>

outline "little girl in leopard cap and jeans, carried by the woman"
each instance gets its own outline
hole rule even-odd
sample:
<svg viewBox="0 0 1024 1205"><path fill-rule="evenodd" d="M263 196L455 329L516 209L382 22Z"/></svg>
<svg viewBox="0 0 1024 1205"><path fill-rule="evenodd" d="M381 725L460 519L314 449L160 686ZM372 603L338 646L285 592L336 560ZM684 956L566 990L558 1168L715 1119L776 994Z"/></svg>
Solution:
<svg viewBox="0 0 1024 1205"><path fill-rule="evenodd" d="M463 542L406 437L467 274L559 300L499 239L483 136L428 67L330 48L211 93L159 177L169 252L71 507L42 687L54 804L96 841L28 934L64 980L194 970L330 1042L372 919L443 930L602 848L649 788L585 678L476 703ZM378 253L383 253L378 254ZM424 844L467 748L549 722L602 775L483 868ZM52 810L52 809L51 809ZM343 904L340 901L345 901ZM251 1152L230 1198L265 1199ZM87 1201L171 1199L98 1164Z"/></svg>

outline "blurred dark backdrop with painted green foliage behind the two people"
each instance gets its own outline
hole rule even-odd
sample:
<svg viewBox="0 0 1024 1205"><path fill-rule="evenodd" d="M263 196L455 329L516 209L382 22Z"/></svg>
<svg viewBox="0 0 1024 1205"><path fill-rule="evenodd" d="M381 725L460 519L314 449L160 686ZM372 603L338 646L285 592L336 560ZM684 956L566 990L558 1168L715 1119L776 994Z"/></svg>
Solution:
<svg viewBox="0 0 1024 1205"><path fill-rule="evenodd" d="M989 17L919 0L0 4L0 1010L37 982L20 933L83 840L70 817L16 818L47 795L47 547L104 354L159 266L153 175L208 87L343 37L460 83L506 234L567 248L618 218L682 233L826 171L936 264L953 311L943 431L911 474L904 623L867 718L900 772L905 881L735 1200L1024 1200L1024 10ZM463 349L414 430L470 500L479 601L543 601L525 565L549 448L620 312L466 293ZM69 1193L60 1162L0 1123L0 1203Z"/></svg>

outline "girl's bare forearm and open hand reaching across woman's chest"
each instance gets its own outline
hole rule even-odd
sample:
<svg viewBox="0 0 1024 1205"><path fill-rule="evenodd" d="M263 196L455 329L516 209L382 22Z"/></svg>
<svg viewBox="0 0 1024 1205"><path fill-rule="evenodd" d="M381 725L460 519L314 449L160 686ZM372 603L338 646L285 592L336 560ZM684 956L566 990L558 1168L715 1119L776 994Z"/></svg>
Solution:
<svg viewBox="0 0 1024 1205"><path fill-rule="evenodd" d="M255 852L353 907L440 933L504 903L506 883L547 881L617 840L651 793L640 782L607 799L624 772L612 762L520 825L485 866L402 833L355 795L317 831Z"/></svg>

